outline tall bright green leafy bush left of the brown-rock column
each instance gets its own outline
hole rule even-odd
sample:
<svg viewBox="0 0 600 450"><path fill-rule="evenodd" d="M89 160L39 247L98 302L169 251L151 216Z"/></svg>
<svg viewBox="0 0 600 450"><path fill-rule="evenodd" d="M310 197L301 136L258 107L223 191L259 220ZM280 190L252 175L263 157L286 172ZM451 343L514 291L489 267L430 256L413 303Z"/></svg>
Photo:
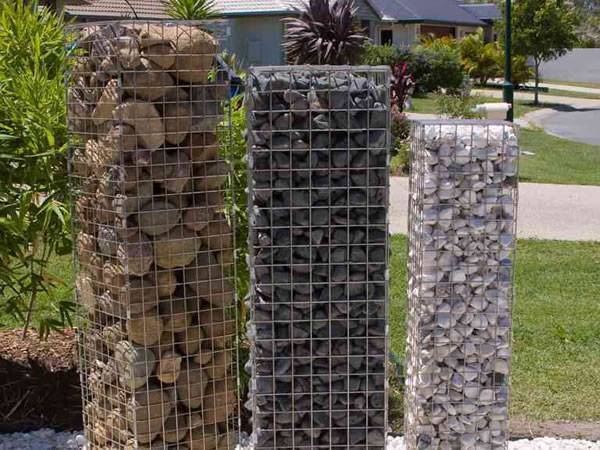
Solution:
<svg viewBox="0 0 600 450"><path fill-rule="evenodd" d="M0 2L0 315L27 328L45 293L56 315L39 318L42 334L73 309L54 298L61 280L48 270L71 250L64 37L62 20L36 2Z"/></svg>

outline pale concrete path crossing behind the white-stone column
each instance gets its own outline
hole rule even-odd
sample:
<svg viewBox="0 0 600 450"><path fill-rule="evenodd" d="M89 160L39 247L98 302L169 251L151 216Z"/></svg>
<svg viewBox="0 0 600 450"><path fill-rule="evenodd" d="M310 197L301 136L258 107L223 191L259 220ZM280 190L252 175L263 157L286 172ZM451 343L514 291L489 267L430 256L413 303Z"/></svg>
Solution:
<svg viewBox="0 0 600 450"><path fill-rule="evenodd" d="M392 178L390 203L390 231L406 234L407 178ZM600 241L600 186L521 183L518 235L521 238Z"/></svg>

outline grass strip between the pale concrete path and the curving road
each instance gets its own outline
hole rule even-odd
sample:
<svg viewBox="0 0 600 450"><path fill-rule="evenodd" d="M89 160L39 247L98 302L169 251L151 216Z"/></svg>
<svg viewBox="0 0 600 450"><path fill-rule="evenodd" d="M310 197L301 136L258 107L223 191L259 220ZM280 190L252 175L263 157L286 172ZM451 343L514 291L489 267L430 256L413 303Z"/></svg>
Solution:
<svg viewBox="0 0 600 450"><path fill-rule="evenodd" d="M542 130L521 129L521 181L600 185L600 146L560 139Z"/></svg>

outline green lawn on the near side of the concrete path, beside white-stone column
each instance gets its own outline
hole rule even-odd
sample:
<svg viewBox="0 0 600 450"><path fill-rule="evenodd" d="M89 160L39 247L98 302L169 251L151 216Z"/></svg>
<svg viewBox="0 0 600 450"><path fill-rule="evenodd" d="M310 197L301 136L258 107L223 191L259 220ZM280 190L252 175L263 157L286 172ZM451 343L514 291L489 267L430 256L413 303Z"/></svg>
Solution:
<svg viewBox="0 0 600 450"><path fill-rule="evenodd" d="M394 236L391 346L404 352L406 238ZM519 241L511 413L514 419L600 420L600 243ZM401 423L398 383L391 407Z"/></svg>

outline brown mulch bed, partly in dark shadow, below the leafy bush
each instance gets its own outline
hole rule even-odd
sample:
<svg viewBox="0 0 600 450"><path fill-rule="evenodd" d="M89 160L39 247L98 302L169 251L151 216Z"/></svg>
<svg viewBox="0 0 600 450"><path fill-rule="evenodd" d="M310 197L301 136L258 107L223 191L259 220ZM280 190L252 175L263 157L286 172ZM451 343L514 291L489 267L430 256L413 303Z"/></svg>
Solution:
<svg viewBox="0 0 600 450"><path fill-rule="evenodd" d="M0 433L81 430L75 330L40 341L34 331L0 331Z"/></svg>

